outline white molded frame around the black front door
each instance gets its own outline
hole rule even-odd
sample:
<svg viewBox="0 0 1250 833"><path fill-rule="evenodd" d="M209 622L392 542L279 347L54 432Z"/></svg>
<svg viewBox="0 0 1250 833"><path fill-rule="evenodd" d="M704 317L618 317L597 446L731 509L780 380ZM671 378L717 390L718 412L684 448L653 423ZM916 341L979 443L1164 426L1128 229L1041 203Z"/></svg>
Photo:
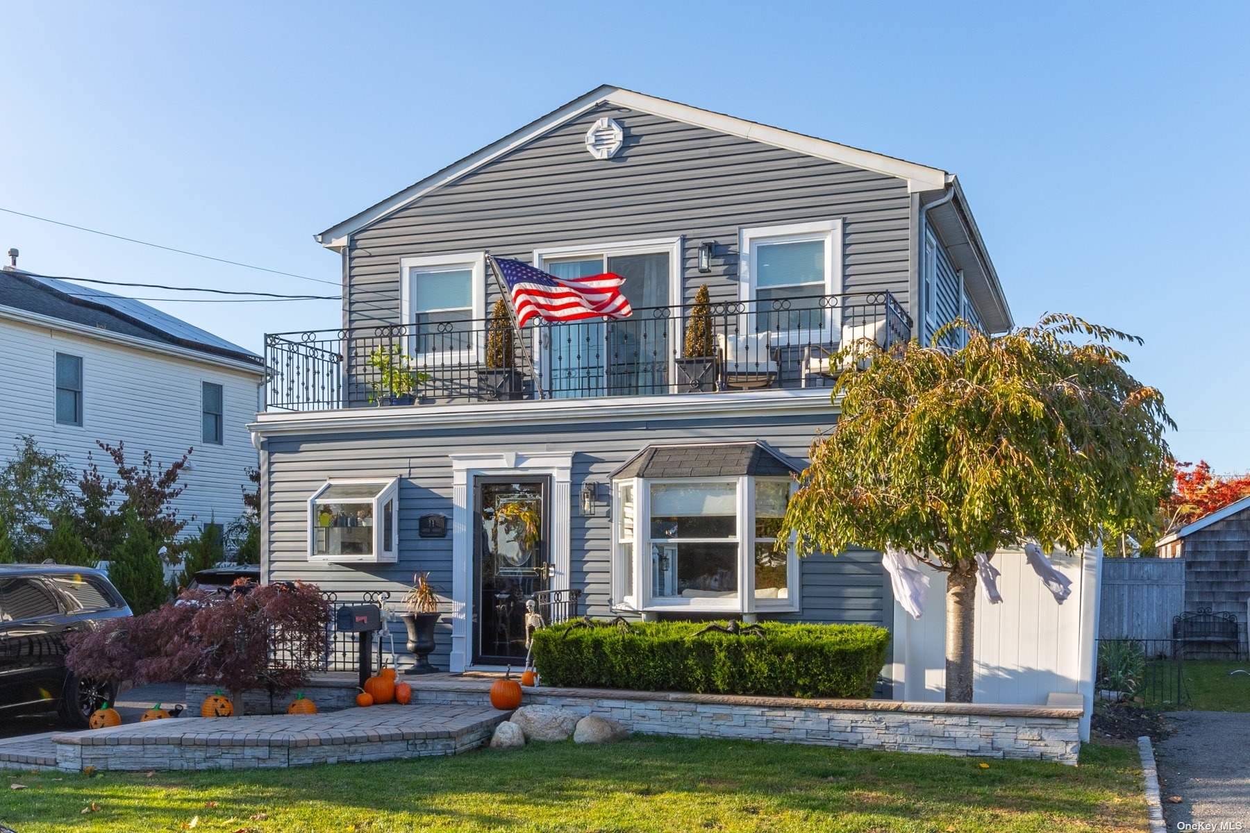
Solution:
<svg viewBox="0 0 1250 833"><path fill-rule="evenodd" d="M559 452L471 452L449 455L451 460L451 671L472 667L472 493L474 478L488 476L551 477L550 589L569 589L572 513L572 453Z"/></svg>

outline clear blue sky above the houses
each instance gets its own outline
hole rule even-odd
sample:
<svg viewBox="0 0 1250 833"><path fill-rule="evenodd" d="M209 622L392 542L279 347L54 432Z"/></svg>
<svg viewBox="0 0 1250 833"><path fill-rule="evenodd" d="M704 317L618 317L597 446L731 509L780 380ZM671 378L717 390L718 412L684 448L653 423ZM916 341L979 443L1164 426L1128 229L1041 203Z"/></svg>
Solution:
<svg viewBox="0 0 1250 833"><path fill-rule="evenodd" d="M1250 470L1250 4L8 2L0 206L338 280L312 234L601 82L959 174L1019 322L1141 335ZM306 292L0 214L51 275ZM160 303L258 350L331 301Z"/></svg>

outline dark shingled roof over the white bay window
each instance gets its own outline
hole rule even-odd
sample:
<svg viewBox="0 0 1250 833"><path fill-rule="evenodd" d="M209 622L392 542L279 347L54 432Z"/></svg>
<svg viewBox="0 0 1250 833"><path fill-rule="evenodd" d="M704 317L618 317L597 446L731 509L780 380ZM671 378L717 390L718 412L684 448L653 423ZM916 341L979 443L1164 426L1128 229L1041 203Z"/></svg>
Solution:
<svg viewBox="0 0 1250 833"><path fill-rule="evenodd" d="M621 477L785 477L802 470L759 440L646 446L616 468Z"/></svg>

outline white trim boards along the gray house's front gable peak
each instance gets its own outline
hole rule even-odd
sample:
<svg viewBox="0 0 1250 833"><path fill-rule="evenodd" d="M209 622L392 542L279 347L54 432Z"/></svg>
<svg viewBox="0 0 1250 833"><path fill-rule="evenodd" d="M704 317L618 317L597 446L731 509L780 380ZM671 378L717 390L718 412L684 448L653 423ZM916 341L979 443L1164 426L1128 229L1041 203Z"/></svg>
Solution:
<svg viewBox="0 0 1250 833"><path fill-rule="evenodd" d="M570 119L575 119L601 104L629 107L630 110L636 110L639 112L646 112L664 119L672 119L675 121L695 125L698 127L706 127L708 130L715 130L718 132L740 136L742 139L751 139L754 141L764 142L765 145L792 150L808 156L816 156L819 159L841 162L852 167L896 176L906 180L908 190L912 192L944 189L951 179L950 175L941 169L920 165L918 162L909 162L895 156L875 154L860 147L851 147L850 145L840 145L825 139L808 136L805 134L794 132L792 130L782 130L781 127L772 127L758 121L729 116L722 112L691 107L686 104L670 101L668 99L659 99L642 92L626 90L624 87L602 85L595 87L585 95L578 96L561 107L556 107L545 116L535 119L520 130L514 130L499 141L491 142L481 150L470 154L469 156L465 156L464 159L452 162L439 171L435 171L422 180L414 182L402 191L392 194L385 200L369 206L364 211L348 217L342 222L330 226L321 234L316 235L316 241L322 246L338 249L342 246L342 239L346 235L354 234L360 229L381 220L392 211L402 209L405 205L421 199L434 189L448 185L449 182L465 176L472 170L490 162L510 150L524 145L531 139L565 121L569 121Z"/></svg>

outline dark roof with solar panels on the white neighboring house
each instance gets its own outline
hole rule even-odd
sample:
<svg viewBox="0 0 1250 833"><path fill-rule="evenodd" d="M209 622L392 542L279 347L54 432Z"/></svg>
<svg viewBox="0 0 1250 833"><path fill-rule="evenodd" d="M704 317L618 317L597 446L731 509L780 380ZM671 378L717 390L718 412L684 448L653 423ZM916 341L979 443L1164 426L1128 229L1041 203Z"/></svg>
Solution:
<svg viewBox="0 0 1250 833"><path fill-rule="evenodd" d="M56 318L79 328L104 330L232 358L258 368L262 365L256 353L141 301L19 269L0 270L0 311L4 307Z"/></svg>

